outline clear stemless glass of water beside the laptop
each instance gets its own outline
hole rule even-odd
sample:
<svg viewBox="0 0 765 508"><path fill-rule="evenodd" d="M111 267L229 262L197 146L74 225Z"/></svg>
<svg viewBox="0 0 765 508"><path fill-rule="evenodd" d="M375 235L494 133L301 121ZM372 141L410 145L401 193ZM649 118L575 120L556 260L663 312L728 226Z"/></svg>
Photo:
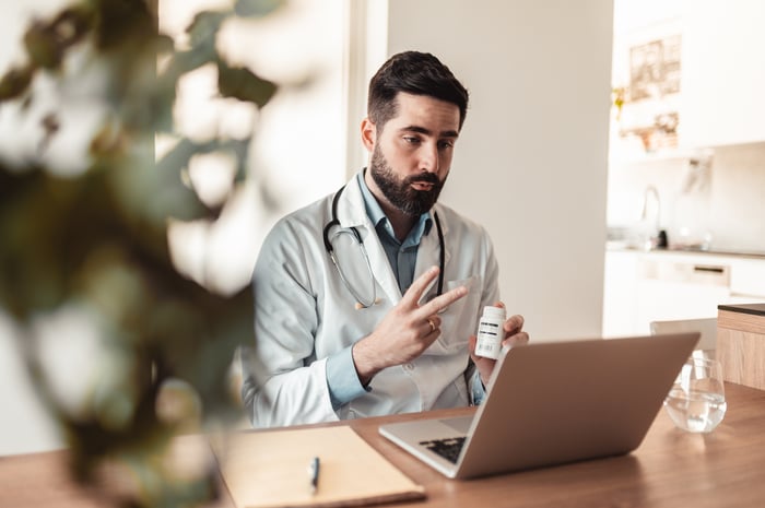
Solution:
<svg viewBox="0 0 765 508"><path fill-rule="evenodd" d="M728 409L720 363L708 356L690 357L664 399L664 409L683 430L714 430Z"/></svg>

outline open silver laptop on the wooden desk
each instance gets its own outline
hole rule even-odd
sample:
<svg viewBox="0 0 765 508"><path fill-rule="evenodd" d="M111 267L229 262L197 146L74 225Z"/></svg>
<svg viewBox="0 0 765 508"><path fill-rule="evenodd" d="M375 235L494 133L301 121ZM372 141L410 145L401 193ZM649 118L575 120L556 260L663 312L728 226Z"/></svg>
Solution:
<svg viewBox="0 0 765 508"><path fill-rule="evenodd" d="M379 433L451 479L625 454L645 438L698 338L513 347L474 415L386 424Z"/></svg>

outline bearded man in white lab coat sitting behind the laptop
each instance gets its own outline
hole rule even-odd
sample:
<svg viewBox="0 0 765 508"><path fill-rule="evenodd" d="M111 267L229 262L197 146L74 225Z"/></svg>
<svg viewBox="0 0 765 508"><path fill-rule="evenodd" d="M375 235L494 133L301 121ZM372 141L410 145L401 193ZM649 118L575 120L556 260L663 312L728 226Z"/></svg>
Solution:
<svg viewBox="0 0 765 508"><path fill-rule="evenodd" d="M256 263L255 426L480 402L494 361L473 354L474 333L502 305L497 262L483 227L436 203L467 108L429 54L396 55L372 79L368 168L283 217ZM507 319L505 345L528 341L522 324Z"/></svg>

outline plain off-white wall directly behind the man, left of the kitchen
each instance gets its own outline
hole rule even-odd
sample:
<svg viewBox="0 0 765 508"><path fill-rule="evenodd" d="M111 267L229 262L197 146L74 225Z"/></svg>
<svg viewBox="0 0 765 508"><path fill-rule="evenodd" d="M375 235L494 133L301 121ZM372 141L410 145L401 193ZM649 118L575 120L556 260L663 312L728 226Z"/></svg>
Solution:
<svg viewBox="0 0 765 508"><path fill-rule="evenodd" d="M389 0L388 54L471 93L444 202L485 224L532 340L600 335L612 0Z"/></svg>

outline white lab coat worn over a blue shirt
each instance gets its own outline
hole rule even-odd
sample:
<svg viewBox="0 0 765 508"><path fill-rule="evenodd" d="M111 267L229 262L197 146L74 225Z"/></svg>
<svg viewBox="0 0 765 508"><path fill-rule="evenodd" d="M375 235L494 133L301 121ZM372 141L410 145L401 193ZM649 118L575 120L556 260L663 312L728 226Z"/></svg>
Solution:
<svg viewBox="0 0 765 508"><path fill-rule="evenodd" d="M332 220L333 197L283 217L267 236L258 257L252 276L255 347L244 352L243 385L243 399L254 426L468 405L468 338L475 333L483 306L499 299L498 268L485 229L437 203L434 210L442 223L446 253L444 291L467 285L469 294L440 315L442 335L424 354L410 364L380 371L368 392L337 413L332 409L327 357L368 335L401 299L354 176L339 199L338 218L342 227L358 229L379 299L369 308L356 308L356 300L343 285L322 240L322 229ZM351 284L358 287L363 298L369 298L369 274L357 245L337 241L333 246L343 269L354 270L349 275ZM438 257L434 225L421 240L415 279L429 267L438 265ZM426 297L435 293L434 284Z"/></svg>

